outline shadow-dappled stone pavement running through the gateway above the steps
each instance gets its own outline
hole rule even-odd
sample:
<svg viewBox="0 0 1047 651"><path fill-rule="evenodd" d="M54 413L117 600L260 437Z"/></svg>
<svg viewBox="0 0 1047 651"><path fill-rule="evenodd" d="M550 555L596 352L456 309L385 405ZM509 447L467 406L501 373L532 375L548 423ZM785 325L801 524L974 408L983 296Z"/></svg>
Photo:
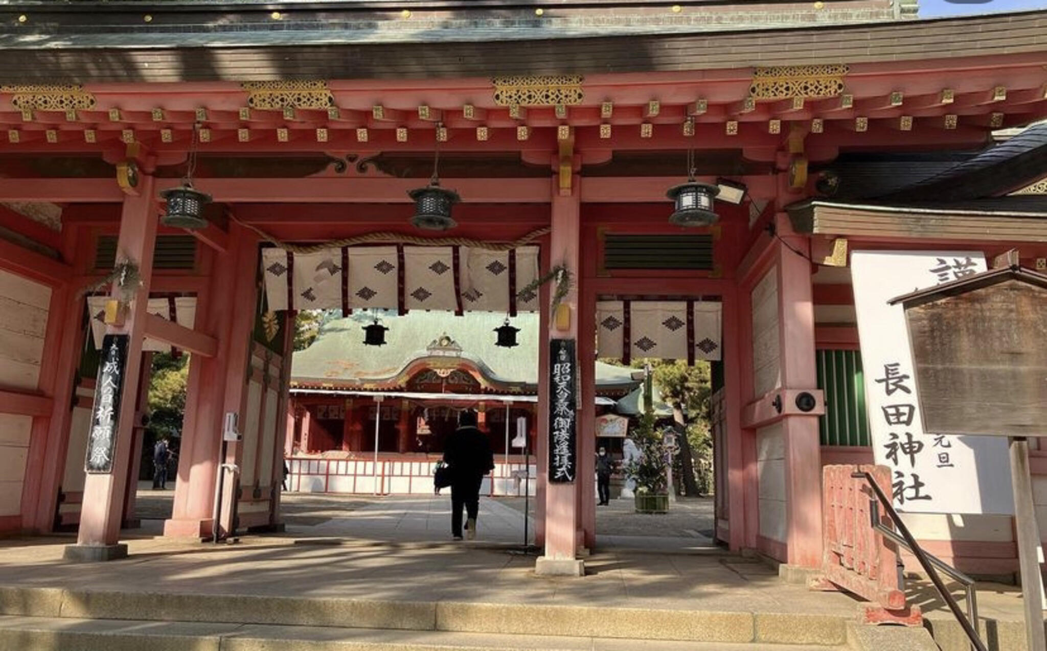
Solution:
<svg viewBox="0 0 1047 651"><path fill-rule="evenodd" d="M263 600L264 616L244 623L338 626L337 619L322 619L325 604L351 600L347 603L395 602L409 608L430 604L426 607L436 607L437 614L424 614L423 620L439 619L442 612L451 618L447 630L464 632L542 634L566 616L556 615L556 609L566 609L571 620L562 624L570 630L581 631L578 627L589 621L585 626L594 632L578 634L615 637L600 633L625 626L618 622L621 618L648 622L656 636L659 626L672 622L671 613L687 612L714 620L722 614L727 619L717 629L721 633L735 626L758 633L787 625L799 629L788 637L793 644L839 644L844 623L855 616L856 602L846 594L784 584L770 565L715 548L664 554L601 546L585 559L585 577L536 577L533 553L525 554L516 538L522 514L495 500L483 500L480 540L472 543L450 541L447 496L287 498L285 533L244 536L233 545L152 536L160 520L149 519L143 530L125 532L130 557L104 564L63 560L63 548L74 542L73 536L0 540L0 613L39 614L19 608L58 594L53 599L62 606L42 616L61 612L63 618L211 622L216 620L198 618L225 612L217 621L228 622L240 616L238 612L243 618L253 612L246 606L230 610L230 605ZM616 517L616 509L599 517ZM948 641L942 648L963 649L956 637L958 627L926 584L913 582L909 587L939 643ZM983 618L992 620L983 623L995 641L989 648L1019 651L1024 642L1017 588L985 587L979 606ZM173 604L172 599L181 601ZM466 610L464 604L469 605ZM515 619L506 619L509 611L489 610L506 606L513 607ZM310 619L315 616L320 619Z"/></svg>

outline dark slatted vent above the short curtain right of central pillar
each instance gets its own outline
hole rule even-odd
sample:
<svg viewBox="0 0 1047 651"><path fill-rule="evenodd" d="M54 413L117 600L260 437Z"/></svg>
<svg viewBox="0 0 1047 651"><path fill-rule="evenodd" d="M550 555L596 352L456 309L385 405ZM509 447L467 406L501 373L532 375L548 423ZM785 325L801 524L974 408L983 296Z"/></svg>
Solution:
<svg viewBox="0 0 1047 651"><path fill-rule="evenodd" d="M712 271L713 237L607 234L604 269L691 269Z"/></svg>

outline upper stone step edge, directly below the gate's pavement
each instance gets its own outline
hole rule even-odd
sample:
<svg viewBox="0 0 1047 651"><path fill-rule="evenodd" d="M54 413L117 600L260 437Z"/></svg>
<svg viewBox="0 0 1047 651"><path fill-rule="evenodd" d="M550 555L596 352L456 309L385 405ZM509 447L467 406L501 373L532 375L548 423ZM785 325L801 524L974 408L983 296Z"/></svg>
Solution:
<svg viewBox="0 0 1047 651"><path fill-rule="evenodd" d="M839 646L842 614L0 587L0 614Z"/></svg>

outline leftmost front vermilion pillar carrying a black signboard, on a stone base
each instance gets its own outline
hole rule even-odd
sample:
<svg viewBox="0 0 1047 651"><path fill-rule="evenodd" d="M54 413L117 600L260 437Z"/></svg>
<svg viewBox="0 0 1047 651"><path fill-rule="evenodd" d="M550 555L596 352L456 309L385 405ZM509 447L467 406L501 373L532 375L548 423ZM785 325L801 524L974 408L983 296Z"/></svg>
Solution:
<svg viewBox="0 0 1047 651"><path fill-rule="evenodd" d="M141 373L141 344L144 337L146 308L149 285L153 276L153 249L156 245L158 215L155 182L142 175L137 197L127 197L120 215L120 231L116 242L117 262L130 262L138 267L139 285L132 295L130 310L121 327L109 326L108 334L129 335L124 385L120 392L119 421L113 450L112 471L88 473L84 482L84 504L80 516L76 544L66 547L66 558L72 560L109 560L127 556L127 545L118 544L131 457L134 413ZM113 287L112 295L119 297ZM95 395L95 401L102 395Z"/></svg>

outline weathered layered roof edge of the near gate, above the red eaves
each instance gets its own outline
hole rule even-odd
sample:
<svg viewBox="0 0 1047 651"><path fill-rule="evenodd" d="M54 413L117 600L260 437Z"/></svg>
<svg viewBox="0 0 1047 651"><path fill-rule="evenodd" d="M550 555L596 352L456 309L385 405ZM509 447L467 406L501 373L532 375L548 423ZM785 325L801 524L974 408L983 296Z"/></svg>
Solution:
<svg viewBox="0 0 1047 651"><path fill-rule="evenodd" d="M834 3L830 3L834 4ZM814 12L814 9L811 9ZM0 12L2 13L2 12ZM12 20L15 20L13 17ZM502 20L502 19L485 19ZM522 20L522 19L520 19ZM669 21L668 18L659 20ZM173 32L99 19L94 30L37 26L0 33L0 82L177 82L513 74L595 74L752 66L857 64L1038 54L1047 48L1047 12L940 20L820 24L797 15L794 24L725 28L701 24L550 27L453 21L425 25L337 21L310 25L274 21L219 27L221 21ZM159 19L154 23L159 23ZM273 21L270 21L273 22ZM548 23L548 24L547 24ZM109 27L106 27L106 25ZM331 29L330 25L336 28ZM271 27L271 28L270 28ZM300 28L299 28L300 27ZM419 28L415 28L419 27ZM525 46L519 42L529 41ZM410 44L410 47L406 47ZM203 55L198 48L207 48ZM279 48L275 49L274 48Z"/></svg>

